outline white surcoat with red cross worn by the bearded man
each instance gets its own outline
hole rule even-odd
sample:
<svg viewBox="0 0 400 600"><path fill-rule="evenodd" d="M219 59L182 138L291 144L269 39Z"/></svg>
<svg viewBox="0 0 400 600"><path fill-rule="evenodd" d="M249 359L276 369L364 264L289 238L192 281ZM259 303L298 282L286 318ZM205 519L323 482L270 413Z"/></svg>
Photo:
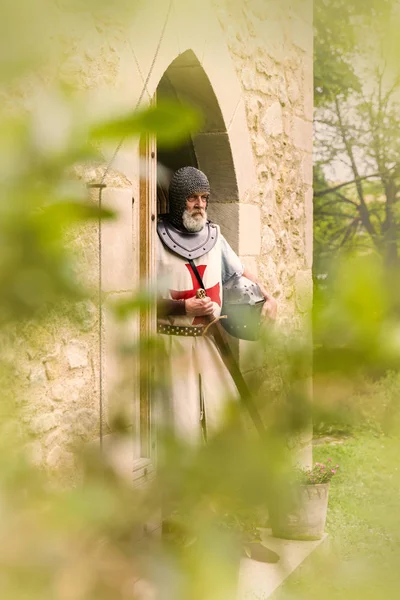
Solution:
<svg viewBox="0 0 400 600"><path fill-rule="evenodd" d="M214 248L195 259L194 263L213 302L214 316L219 316L222 305L220 235ZM192 298L200 288L188 260L170 252L159 238L157 276L159 294L163 298ZM179 315L165 318L162 322L192 327L204 323L204 319ZM168 354L170 422L177 435L198 442L204 432L201 417L204 416L208 435L215 431L221 423L227 401L237 395L235 384L212 337L160 335Z"/></svg>

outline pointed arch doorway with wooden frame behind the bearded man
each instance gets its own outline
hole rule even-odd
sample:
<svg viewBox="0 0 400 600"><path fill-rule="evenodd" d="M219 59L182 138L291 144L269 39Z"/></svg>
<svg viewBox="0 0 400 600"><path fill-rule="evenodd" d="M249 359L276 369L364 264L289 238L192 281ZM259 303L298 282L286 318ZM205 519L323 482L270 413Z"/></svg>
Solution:
<svg viewBox="0 0 400 600"><path fill-rule="evenodd" d="M239 223L237 219L239 192L229 134L209 78L192 50L179 55L162 75L154 101L169 99L197 107L204 118L202 129L173 149L157 148L154 138L142 139L140 154L145 163L145 175L140 185L140 279L151 285L156 280L155 241L156 215L168 212L167 191L174 171L183 166L194 166L203 170L210 181L211 202L209 216L223 225L223 233L232 247L237 250ZM231 219L227 222L226 209ZM236 215L236 218L235 218ZM222 217L222 218L221 218ZM155 313L145 311L140 319L140 335L144 338L155 332ZM141 369L149 374L154 368L144 359ZM140 459L138 471L154 464L153 429L153 385L145 378L140 385L138 421L140 431ZM151 468L151 467L150 467Z"/></svg>

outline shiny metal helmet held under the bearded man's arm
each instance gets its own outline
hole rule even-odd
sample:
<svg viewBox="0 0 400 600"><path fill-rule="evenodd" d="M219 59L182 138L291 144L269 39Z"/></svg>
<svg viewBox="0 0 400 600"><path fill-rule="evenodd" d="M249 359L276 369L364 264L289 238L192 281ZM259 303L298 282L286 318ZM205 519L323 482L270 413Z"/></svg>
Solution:
<svg viewBox="0 0 400 600"><path fill-rule="evenodd" d="M221 320L221 325L230 335L241 340L257 340L264 302L256 283L247 277L234 275L223 287L221 315L227 318Z"/></svg>

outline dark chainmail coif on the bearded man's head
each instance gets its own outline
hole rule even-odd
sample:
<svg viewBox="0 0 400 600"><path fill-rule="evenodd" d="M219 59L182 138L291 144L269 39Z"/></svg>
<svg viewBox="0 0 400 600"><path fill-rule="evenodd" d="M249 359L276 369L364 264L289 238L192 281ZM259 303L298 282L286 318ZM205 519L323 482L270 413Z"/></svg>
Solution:
<svg viewBox="0 0 400 600"><path fill-rule="evenodd" d="M182 215L186 208L186 199L195 192L210 193L206 175L194 167L182 167L175 171L168 190L169 220L178 229L183 229Z"/></svg>

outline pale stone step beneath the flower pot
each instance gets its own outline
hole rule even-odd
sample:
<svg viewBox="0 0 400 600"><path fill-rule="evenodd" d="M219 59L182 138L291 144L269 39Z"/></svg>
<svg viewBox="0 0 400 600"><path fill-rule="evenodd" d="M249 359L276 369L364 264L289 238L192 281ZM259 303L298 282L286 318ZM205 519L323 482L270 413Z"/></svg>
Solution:
<svg viewBox="0 0 400 600"><path fill-rule="evenodd" d="M262 543L280 556L276 564L243 558L239 573L238 600L266 600L297 569L314 550L326 543L321 540L299 542L272 536L270 529L262 532Z"/></svg>

